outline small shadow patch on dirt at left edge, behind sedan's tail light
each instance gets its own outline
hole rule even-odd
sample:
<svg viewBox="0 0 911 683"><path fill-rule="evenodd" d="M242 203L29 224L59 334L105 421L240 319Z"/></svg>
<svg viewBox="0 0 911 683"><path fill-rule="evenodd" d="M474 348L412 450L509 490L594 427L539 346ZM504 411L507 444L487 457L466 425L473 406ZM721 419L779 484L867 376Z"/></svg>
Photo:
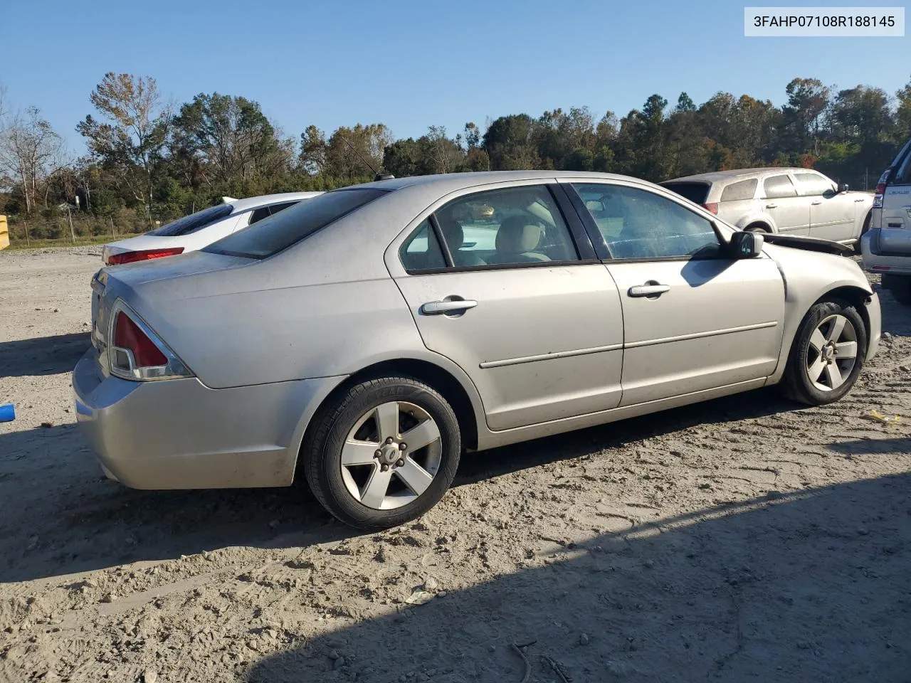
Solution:
<svg viewBox="0 0 911 683"><path fill-rule="evenodd" d="M90 344L88 332L0 342L0 378L70 372Z"/></svg>

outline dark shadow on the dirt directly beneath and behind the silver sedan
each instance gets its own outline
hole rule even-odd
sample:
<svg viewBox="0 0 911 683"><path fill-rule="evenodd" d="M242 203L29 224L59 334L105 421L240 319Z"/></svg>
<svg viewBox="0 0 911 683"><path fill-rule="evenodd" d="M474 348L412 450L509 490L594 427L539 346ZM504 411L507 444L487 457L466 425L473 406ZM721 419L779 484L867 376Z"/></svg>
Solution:
<svg viewBox="0 0 911 683"><path fill-rule="evenodd" d="M660 420L634 418L465 454L453 485L597 454L694 424L796 407L761 390L678 408L662 413ZM57 468L67 474L55 474L48 484L47 470ZM301 547L357 534L335 522L306 485L138 491L105 479L75 424L0 433L0 581L174 559L226 546ZM75 555L73 548L78 548Z"/></svg>

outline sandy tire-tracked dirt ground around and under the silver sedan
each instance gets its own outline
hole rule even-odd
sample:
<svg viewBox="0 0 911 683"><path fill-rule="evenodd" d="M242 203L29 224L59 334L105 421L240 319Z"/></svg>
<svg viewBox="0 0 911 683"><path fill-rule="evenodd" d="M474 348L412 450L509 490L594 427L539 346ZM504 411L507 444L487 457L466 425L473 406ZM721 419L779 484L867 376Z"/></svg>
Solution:
<svg viewBox="0 0 911 683"><path fill-rule="evenodd" d="M887 292L840 403L763 390L467 455L419 522L360 535L299 489L103 478L69 385L99 263L0 253L0 680L911 680Z"/></svg>

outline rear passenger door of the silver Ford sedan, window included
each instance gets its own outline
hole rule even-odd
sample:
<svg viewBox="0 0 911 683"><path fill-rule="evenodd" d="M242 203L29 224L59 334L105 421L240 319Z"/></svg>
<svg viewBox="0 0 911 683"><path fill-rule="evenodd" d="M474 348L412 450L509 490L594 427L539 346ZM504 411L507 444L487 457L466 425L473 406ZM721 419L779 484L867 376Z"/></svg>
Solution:
<svg viewBox="0 0 911 683"><path fill-rule="evenodd" d="M463 191L405 234L386 264L427 348L475 383L490 429L617 407L619 293L562 189Z"/></svg>

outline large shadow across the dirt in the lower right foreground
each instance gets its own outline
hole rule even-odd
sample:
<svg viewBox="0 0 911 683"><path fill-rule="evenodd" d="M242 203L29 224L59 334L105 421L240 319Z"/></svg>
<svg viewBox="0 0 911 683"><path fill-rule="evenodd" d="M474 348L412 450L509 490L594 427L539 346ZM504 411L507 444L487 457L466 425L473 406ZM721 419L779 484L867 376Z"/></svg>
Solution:
<svg viewBox="0 0 911 683"><path fill-rule="evenodd" d="M599 535L308 637L246 680L907 681L909 486L887 476ZM532 643L527 664L513 643Z"/></svg>

